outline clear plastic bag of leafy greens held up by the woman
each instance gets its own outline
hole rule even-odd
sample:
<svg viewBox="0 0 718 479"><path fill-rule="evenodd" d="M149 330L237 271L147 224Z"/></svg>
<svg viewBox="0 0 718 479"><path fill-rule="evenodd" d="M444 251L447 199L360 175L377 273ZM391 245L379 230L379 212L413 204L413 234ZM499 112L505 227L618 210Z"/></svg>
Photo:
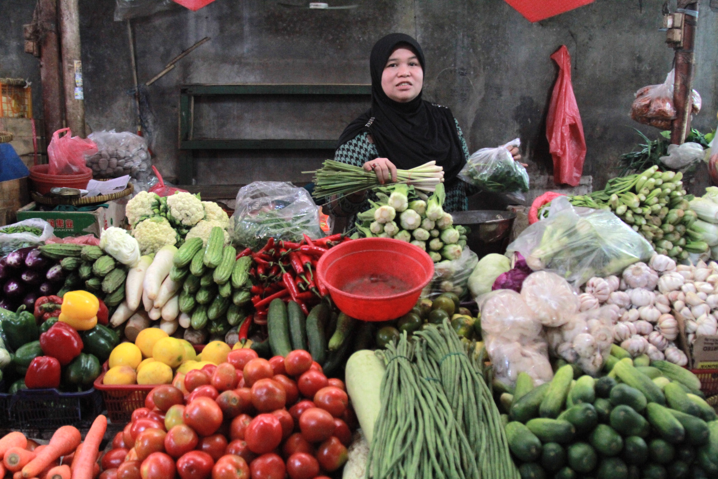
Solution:
<svg viewBox="0 0 718 479"><path fill-rule="evenodd" d="M482 148L469 157L459 178L483 191L492 193L526 193L528 173L521 163L513 160L509 147L521 146L521 140L506 143L498 148Z"/></svg>

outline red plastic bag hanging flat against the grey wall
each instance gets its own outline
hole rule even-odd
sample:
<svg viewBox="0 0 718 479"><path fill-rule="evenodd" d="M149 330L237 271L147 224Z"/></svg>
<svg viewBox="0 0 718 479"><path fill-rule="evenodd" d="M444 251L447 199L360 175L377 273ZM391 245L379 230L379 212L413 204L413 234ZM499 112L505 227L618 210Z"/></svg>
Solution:
<svg viewBox="0 0 718 479"><path fill-rule="evenodd" d="M586 159L586 140L579 106L571 85L571 55L566 45L551 55L559 65L559 78L551 96L546 119L546 138L554 158L554 183L577 186Z"/></svg>

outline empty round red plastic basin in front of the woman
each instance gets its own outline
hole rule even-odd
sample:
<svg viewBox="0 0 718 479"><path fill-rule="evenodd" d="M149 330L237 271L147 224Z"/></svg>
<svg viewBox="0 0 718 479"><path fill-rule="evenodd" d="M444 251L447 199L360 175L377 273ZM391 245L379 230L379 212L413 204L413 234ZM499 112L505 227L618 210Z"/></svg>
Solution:
<svg viewBox="0 0 718 479"><path fill-rule="evenodd" d="M317 275L340 311L363 321L387 321L411 311L434 276L434 262L407 242L363 238L326 252Z"/></svg>

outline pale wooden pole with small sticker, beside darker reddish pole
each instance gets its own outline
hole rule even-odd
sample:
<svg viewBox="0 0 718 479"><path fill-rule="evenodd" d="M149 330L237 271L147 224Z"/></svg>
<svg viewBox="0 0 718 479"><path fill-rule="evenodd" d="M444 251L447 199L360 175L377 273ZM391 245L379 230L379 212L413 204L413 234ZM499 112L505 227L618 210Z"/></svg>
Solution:
<svg viewBox="0 0 718 479"><path fill-rule="evenodd" d="M85 100L80 55L78 0L58 0L62 79L65 83L65 120L74 136L85 137Z"/></svg>

